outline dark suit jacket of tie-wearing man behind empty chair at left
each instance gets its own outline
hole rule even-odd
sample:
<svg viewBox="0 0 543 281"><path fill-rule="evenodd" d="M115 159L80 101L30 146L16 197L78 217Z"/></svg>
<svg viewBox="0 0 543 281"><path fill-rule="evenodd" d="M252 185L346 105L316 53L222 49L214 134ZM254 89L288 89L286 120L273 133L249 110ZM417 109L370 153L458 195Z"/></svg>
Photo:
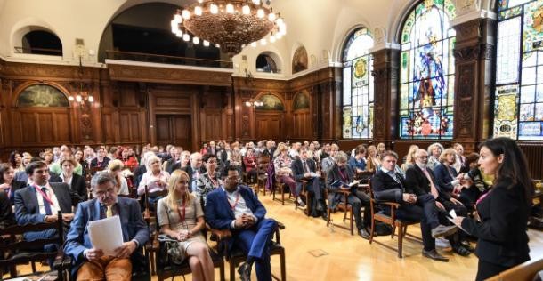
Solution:
<svg viewBox="0 0 543 281"><path fill-rule="evenodd" d="M71 213L69 186L62 182L49 183L61 207L62 213ZM20 225L43 222L45 214L39 213L36 189L28 186L15 192L15 218Z"/></svg>

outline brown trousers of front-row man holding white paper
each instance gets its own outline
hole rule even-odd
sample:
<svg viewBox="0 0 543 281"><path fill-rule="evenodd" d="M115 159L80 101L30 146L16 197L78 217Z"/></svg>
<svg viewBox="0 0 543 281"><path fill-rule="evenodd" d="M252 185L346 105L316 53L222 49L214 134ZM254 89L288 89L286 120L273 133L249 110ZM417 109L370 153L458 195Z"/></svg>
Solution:
<svg viewBox="0 0 543 281"><path fill-rule="evenodd" d="M96 261L86 261L77 271L77 280L130 280L132 262L130 259L118 259L103 256Z"/></svg>

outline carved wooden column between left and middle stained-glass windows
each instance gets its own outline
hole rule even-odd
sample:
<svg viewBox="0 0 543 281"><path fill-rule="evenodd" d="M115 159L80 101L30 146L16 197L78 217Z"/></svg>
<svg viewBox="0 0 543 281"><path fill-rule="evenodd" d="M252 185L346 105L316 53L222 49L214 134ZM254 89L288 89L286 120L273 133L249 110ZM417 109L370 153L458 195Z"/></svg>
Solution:
<svg viewBox="0 0 543 281"><path fill-rule="evenodd" d="M395 49L373 52L373 141L385 142L387 147L398 138L399 54Z"/></svg>

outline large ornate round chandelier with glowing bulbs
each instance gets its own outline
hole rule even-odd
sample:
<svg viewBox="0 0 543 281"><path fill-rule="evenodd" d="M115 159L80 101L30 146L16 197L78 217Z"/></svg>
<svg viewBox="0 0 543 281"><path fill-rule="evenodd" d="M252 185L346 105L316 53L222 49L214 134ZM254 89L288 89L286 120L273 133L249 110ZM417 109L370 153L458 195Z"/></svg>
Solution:
<svg viewBox="0 0 543 281"><path fill-rule="evenodd" d="M178 10L171 21L172 32L184 41L204 46L215 44L230 57L248 44L273 43L287 33L280 13L273 12L270 1L198 0ZM267 38L266 38L267 36Z"/></svg>

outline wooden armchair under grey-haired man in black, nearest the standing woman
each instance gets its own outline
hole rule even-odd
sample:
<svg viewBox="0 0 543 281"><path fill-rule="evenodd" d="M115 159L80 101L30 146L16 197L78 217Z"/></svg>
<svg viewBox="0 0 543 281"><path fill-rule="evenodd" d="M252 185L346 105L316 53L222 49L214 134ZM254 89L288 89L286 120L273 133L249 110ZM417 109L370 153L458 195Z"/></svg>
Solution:
<svg viewBox="0 0 543 281"><path fill-rule="evenodd" d="M403 238L408 235L409 237L413 237L417 240L420 240L418 237L411 236L407 233L407 227L409 225L417 224L420 221L401 221L400 219L396 218L396 210L398 207L400 207L400 204L395 202L385 202L385 201L377 201L373 194L373 189L371 189L371 181L369 181L369 197L370 197L370 207L371 207L371 231L369 232L369 244L373 242L374 233L376 231L376 221L381 221L383 223L389 224L393 228L393 232L391 234L391 238L394 238L394 233L396 232L396 229L398 229L398 248L394 249L393 247L390 247L389 245L385 245L382 243L379 243L376 240L377 244L384 245L385 247L392 249L394 251L398 252L398 257L402 258L402 250L403 250ZM390 207L390 215L387 215L385 213L379 212L376 213L376 205L388 205Z"/></svg>

